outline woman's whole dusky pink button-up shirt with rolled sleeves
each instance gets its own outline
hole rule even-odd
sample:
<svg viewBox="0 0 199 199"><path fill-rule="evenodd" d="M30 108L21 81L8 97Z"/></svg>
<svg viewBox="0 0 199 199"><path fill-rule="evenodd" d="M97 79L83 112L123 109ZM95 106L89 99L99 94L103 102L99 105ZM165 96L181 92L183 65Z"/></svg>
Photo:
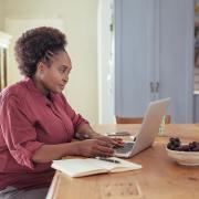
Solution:
<svg viewBox="0 0 199 199"><path fill-rule="evenodd" d="M50 100L31 78L9 86L0 93L0 190L49 186L54 170L48 164L32 161L33 153L43 144L69 143L74 132L87 124L75 114L62 94Z"/></svg>

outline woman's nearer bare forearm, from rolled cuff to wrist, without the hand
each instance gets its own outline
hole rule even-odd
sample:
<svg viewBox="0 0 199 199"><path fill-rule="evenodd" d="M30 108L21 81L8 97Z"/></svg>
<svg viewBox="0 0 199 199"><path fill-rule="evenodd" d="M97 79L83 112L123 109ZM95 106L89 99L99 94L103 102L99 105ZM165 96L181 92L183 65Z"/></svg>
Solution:
<svg viewBox="0 0 199 199"><path fill-rule="evenodd" d="M57 145L43 145L32 156L34 163L49 163L60 159L63 156L78 155L78 142L64 143Z"/></svg>

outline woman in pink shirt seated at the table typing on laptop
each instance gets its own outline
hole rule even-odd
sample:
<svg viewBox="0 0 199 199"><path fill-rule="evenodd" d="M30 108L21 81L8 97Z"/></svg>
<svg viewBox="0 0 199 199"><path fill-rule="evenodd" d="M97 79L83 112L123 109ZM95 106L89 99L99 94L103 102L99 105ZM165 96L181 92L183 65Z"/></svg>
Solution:
<svg viewBox="0 0 199 199"><path fill-rule="evenodd" d="M46 27L27 31L15 43L24 78L0 94L0 198L44 198L53 159L112 156L122 145L95 133L62 94L72 70L65 45L65 35Z"/></svg>

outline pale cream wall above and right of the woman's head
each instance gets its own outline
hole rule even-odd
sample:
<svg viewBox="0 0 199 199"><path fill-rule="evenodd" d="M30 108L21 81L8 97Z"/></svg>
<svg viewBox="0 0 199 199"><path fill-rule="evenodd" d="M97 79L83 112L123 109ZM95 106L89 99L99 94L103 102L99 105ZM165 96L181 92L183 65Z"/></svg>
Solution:
<svg viewBox="0 0 199 199"><path fill-rule="evenodd" d="M97 109L97 1L98 0L0 0L6 18L53 18L64 20L67 51L73 70L65 91L71 105L91 123ZM0 7L1 7L0 4ZM1 9L0 9L1 13ZM2 25L2 21L0 21ZM17 65L10 65L17 71ZM17 74L17 72L15 72ZM11 80L10 80L10 83Z"/></svg>

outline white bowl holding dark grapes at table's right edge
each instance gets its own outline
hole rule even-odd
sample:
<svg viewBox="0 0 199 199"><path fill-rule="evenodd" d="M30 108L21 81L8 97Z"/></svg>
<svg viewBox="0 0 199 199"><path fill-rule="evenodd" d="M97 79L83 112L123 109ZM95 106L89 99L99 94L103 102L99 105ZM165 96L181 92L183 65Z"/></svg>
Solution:
<svg viewBox="0 0 199 199"><path fill-rule="evenodd" d="M178 151L166 147L167 155L179 165L199 166L199 151Z"/></svg>

